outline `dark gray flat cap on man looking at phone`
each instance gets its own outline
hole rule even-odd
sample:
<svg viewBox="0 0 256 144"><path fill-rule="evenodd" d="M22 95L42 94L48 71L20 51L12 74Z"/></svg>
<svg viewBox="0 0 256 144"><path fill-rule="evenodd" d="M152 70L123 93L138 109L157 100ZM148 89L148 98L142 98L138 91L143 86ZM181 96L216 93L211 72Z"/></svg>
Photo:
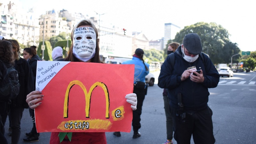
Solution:
<svg viewBox="0 0 256 144"><path fill-rule="evenodd" d="M187 34L183 39L183 45L191 54L200 54L202 52L201 40L196 33Z"/></svg>

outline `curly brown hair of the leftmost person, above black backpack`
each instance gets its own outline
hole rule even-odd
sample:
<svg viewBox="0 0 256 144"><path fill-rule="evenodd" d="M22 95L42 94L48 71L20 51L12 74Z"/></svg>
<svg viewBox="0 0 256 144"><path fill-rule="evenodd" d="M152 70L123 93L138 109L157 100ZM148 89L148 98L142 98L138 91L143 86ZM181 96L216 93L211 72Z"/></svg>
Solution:
<svg viewBox="0 0 256 144"><path fill-rule="evenodd" d="M11 63L12 65L14 64L15 59L12 51L12 43L5 40L0 41L0 60Z"/></svg>

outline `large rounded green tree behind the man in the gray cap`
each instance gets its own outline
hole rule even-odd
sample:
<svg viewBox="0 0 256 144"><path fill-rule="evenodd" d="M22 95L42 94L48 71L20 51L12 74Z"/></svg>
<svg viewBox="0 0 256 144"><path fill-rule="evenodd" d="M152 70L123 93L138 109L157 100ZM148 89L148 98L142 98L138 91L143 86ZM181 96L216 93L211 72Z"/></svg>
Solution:
<svg viewBox="0 0 256 144"><path fill-rule="evenodd" d="M198 22L186 26L177 33L173 41L182 44L184 36L189 33L197 33L200 36L203 52L209 54L214 64L229 63L231 56L240 52L237 44L230 42L228 31L216 23ZM234 61L238 59L239 57L236 57Z"/></svg>

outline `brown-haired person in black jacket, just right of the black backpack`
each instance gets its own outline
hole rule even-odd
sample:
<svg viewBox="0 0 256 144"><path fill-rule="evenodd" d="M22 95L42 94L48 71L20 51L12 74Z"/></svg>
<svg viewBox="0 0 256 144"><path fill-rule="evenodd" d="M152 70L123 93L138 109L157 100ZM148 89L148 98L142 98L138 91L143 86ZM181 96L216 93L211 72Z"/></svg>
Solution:
<svg viewBox="0 0 256 144"><path fill-rule="evenodd" d="M6 39L5 39L6 40ZM14 67L18 71L20 92L18 96L12 100L9 112L9 121L12 135L12 144L17 144L20 139L20 121L24 108L28 108L26 102L27 95L34 90L33 73L27 60L20 58L20 45L16 40L7 40L12 43L15 64Z"/></svg>

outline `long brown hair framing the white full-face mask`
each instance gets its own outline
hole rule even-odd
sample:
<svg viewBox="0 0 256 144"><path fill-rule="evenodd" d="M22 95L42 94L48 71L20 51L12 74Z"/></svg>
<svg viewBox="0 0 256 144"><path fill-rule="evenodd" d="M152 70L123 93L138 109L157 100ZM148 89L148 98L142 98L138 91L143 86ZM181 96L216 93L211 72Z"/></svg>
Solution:
<svg viewBox="0 0 256 144"><path fill-rule="evenodd" d="M95 30L95 33L96 33L96 48L95 48L95 55L94 57L91 59L91 62L95 62L95 63L102 63L100 61L100 47L99 47L99 39L98 39L98 30L97 28L95 27L95 25L90 21L90 20L81 20L80 22L78 22L78 24L76 24L76 26L73 28L72 30L72 33L71 33L71 41L72 41L72 44L69 48L69 51L68 51L68 56L66 58L67 61L75 61L75 57L73 55L73 34L74 34L74 30L80 26L85 26L85 25L88 25L90 27L92 27L94 30Z"/></svg>

